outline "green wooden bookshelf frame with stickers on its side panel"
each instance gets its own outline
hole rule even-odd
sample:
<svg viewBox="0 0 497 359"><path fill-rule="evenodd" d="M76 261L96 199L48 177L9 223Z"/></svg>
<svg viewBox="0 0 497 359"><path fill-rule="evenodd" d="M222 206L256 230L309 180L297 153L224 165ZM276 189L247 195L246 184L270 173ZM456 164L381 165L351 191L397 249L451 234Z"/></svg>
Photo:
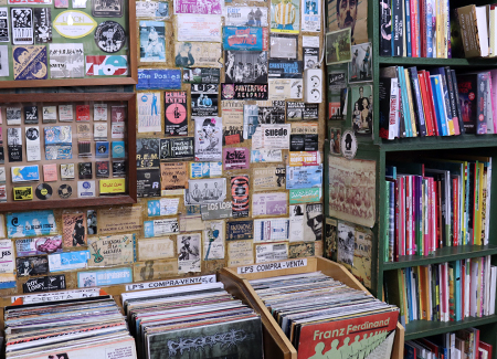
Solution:
<svg viewBox="0 0 497 359"><path fill-rule="evenodd" d="M416 137L402 138L395 140L384 140L379 136L379 80L380 68L387 66L401 65L404 67L416 66L420 70L430 70L437 66L451 66L456 72L474 72L486 68L497 68L497 57L491 59L412 59L412 57L382 57L379 55L380 46L380 13L379 1L368 1L368 30L369 39L372 43L372 83L353 83L372 84L373 86L373 128L372 136L358 137L357 159L367 159L376 161L376 221L371 229L373 232L373 245L371 250L371 287L370 292L380 299L383 299L383 277L390 271L400 268L437 264L444 262L458 261L464 258L480 257L491 255L493 264L497 264L497 170L494 169L491 173L491 198L490 198L490 218L489 221L489 244L483 246L456 246L444 247L437 250L433 255L429 256L403 256L399 262L384 262L382 254L385 250L385 243L382 239L385 235L384 229L384 207L385 207L385 184L384 173L385 166L389 160L413 160L419 157L442 157L444 154L461 154L475 156L490 156L493 157L494 167L497 165L497 135L462 135L452 137ZM464 1L450 0L451 8L466 6L468 3L476 3L477 6L491 3L486 1ZM343 64L328 65L328 71L345 71L347 68ZM350 96L347 104L347 116L343 120L327 122L329 127L341 128L341 130L351 129L351 113L352 104ZM328 117L329 118L329 117ZM327 138L329 138L327 136ZM329 140L325 142L325 161L329 155ZM331 155L332 156L332 155ZM329 176L328 163L325 162L325 179ZM329 183L325 180L325 193L329 193ZM325 213L329 215L329 199L325 194ZM338 219L340 220L340 219ZM405 327L405 340L423 338L427 336L455 331L468 327L480 328L482 338L494 346L494 359L497 359L497 315L487 316L483 318L466 318L457 323L440 323L427 320L415 320L409 323ZM484 330L483 330L484 329Z"/></svg>

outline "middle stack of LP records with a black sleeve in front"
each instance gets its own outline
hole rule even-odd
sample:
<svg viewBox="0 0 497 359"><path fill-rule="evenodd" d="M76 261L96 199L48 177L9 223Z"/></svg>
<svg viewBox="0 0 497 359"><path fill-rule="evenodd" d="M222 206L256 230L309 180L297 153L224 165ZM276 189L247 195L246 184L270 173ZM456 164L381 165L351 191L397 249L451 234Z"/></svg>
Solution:
<svg viewBox="0 0 497 359"><path fill-rule="evenodd" d="M140 359L263 358L261 317L222 283L129 292L121 299Z"/></svg>

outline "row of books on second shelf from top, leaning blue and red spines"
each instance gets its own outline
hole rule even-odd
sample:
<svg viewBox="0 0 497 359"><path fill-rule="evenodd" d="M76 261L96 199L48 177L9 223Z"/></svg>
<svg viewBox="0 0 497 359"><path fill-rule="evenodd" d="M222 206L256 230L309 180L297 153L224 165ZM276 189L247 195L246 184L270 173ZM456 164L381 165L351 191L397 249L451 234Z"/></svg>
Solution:
<svg viewBox="0 0 497 359"><path fill-rule="evenodd" d="M497 133L497 70L457 74L450 66L380 71L380 137Z"/></svg>

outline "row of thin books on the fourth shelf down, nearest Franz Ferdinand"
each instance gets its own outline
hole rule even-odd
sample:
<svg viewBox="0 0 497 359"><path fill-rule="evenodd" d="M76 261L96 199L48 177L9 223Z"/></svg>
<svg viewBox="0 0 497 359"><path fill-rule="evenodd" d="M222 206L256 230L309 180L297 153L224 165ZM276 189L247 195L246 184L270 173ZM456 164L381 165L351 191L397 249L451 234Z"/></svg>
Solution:
<svg viewBox="0 0 497 359"><path fill-rule="evenodd" d="M497 267L490 256L389 271L385 299L413 320L459 321L495 314Z"/></svg>

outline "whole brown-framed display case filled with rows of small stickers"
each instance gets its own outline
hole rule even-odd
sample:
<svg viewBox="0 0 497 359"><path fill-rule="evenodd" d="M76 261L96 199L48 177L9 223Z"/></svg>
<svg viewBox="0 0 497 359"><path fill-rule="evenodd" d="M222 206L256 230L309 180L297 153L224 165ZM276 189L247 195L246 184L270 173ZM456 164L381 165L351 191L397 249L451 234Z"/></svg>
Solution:
<svg viewBox="0 0 497 359"><path fill-rule="evenodd" d="M136 203L136 95L0 95L0 211Z"/></svg>

